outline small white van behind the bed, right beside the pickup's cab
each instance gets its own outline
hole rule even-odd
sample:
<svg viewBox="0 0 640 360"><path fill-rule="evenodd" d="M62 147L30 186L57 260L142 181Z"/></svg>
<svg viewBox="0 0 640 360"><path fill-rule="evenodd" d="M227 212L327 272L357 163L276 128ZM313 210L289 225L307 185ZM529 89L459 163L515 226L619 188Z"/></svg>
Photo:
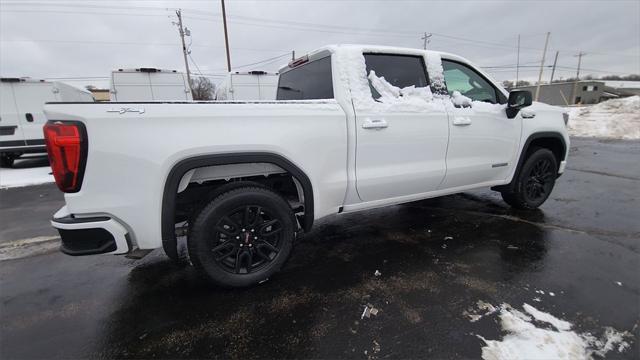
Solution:
<svg viewBox="0 0 640 360"><path fill-rule="evenodd" d="M278 74L265 71L229 73L216 90L216 100L275 100Z"/></svg>

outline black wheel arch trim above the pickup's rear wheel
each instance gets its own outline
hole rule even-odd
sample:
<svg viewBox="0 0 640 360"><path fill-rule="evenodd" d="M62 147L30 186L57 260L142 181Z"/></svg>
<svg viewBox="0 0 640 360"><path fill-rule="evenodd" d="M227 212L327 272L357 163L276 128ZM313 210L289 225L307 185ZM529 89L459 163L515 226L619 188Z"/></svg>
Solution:
<svg viewBox="0 0 640 360"><path fill-rule="evenodd" d="M161 207L161 234L164 252L171 259L178 259L177 239L175 235L175 211L176 199L180 180L189 171L195 168L216 165L246 164L246 163L271 163L281 167L297 179L302 185L304 194L304 217L302 228L309 231L313 226L314 202L313 186L311 180L297 165L285 157L266 152L210 154L189 157L177 162L167 175L162 194Z"/></svg>

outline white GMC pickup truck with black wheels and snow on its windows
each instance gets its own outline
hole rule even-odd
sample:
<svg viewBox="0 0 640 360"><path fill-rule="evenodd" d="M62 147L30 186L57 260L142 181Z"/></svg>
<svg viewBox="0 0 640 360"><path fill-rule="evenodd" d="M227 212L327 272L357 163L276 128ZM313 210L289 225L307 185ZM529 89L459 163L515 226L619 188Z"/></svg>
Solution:
<svg viewBox="0 0 640 360"><path fill-rule="evenodd" d="M224 286L276 273L315 220L492 187L540 206L568 116L451 54L321 48L276 101L49 103L44 133L69 255L163 247ZM179 241L180 239L180 241Z"/></svg>

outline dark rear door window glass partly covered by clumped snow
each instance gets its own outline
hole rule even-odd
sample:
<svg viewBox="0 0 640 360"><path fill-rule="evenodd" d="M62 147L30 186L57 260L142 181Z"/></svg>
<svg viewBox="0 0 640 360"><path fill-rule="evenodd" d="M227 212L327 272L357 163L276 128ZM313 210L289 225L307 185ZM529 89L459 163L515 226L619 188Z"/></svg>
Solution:
<svg viewBox="0 0 640 360"><path fill-rule="evenodd" d="M393 86L404 88L407 86L427 87L427 71L422 56L412 55L388 55L388 54L364 54L367 65L367 76L371 70L376 76L384 77ZM380 94L371 87L374 98Z"/></svg>

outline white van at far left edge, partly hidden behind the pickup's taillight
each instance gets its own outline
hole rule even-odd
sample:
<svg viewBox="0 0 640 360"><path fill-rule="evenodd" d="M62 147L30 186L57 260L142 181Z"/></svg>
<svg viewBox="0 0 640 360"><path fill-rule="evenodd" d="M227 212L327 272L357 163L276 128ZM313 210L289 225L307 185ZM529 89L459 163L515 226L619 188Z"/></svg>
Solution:
<svg viewBox="0 0 640 360"><path fill-rule="evenodd" d="M0 78L0 165L24 153L45 152L42 112L46 102L93 102L91 93L60 82Z"/></svg>

